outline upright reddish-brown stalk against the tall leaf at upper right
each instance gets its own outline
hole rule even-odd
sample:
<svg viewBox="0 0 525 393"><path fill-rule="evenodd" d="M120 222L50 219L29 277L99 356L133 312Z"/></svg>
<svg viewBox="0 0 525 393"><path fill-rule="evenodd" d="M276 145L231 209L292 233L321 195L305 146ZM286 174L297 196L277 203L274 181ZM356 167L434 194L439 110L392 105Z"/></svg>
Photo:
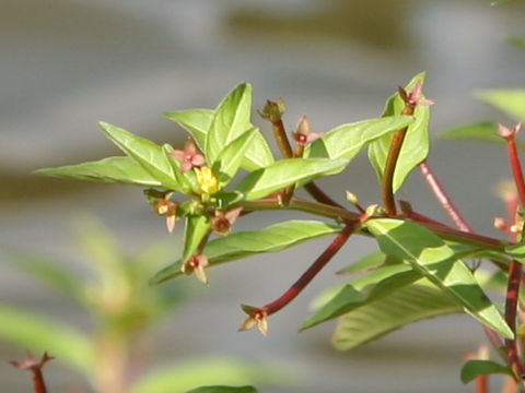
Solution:
<svg viewBox="0 0 525 393"><path fill-rule="evenodd" d="M412 115L413 106L406 105L401 111L401 115ZM396 131L394 134L390 147L388 150L388 155L386 156L385 171L382 179L382 193L383 193L383 204L386 210L386 213L389 216L396 215L396 201L394 199L394 171L396 170L397 159L399 158L399 153L401 151L402 141L407 134L408 127Z"/></svg>

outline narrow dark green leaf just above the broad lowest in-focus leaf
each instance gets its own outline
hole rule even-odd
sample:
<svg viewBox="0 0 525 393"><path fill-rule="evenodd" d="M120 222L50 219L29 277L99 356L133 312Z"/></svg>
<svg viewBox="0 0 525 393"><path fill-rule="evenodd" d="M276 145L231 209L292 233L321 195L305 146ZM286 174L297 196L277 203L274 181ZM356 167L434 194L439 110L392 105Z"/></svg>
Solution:
<svg viewBox="0 0 525 393"><path fill-rule="evenodd" d="M304 321L300 330L303 331L313 327L322 322L329 321L363 307L369 302L378 301L386 296L392 296L394 291L413 283L420 277L421 275L413 271L401 272L381 281L366 291L360 291L352 285L346 285L332 299Z"/></svg>

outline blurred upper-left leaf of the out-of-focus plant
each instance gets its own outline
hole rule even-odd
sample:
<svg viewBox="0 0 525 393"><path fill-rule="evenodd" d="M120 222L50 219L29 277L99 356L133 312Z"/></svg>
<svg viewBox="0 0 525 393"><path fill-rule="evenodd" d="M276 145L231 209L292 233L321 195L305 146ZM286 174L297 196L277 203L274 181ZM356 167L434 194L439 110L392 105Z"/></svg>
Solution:
<svg viewBox="0 0 525 393"><path fill-rule="evenodd" d="M10 251L5 260L11 267L49 286L58 294L79 303L84 302L81 279L56 260L27 251Z"/></svg>

